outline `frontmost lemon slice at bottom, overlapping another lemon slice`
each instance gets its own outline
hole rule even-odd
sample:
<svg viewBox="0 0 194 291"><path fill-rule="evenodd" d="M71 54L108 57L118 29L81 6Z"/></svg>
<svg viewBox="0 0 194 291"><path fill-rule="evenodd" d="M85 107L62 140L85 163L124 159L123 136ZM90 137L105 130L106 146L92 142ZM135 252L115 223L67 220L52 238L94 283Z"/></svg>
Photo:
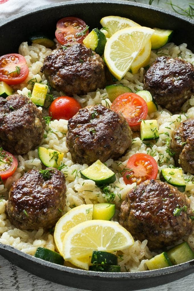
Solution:
<svg viewBox="0 0 194 291"><path fill-rule="evenodd" d="M88 220L70 229L63 240L63 258L88 258L93 251L112 252L134 244L132 235L118 223Z"/></svg>

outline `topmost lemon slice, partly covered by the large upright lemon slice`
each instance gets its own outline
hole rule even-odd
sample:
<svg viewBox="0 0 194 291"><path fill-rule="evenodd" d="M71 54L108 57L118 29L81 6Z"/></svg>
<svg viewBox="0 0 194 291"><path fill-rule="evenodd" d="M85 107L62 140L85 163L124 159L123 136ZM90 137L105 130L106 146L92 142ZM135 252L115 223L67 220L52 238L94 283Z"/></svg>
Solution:
<svg viewBox="0 0 194 291"><path fill-rule="evenodd" d="M106 29L106 37L111 37L116 31L130 26L140 26L136 22L119 16L106 16L100 20L100 24ZM104 31L104 29L103 29Z"/></svg>

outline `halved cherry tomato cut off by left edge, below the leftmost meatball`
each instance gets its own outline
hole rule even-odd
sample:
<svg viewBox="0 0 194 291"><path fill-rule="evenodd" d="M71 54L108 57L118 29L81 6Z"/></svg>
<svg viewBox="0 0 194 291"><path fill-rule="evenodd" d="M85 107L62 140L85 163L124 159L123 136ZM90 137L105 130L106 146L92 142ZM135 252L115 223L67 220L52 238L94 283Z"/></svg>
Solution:
<svg viewBox="0 0 194 291"><path fill-rule="evenodd" d="M10 154L10 152L6 152L2 148L0 148L0 176L1 179L7 179L12 176L13 173L17 169L17 159Z"/></svg>

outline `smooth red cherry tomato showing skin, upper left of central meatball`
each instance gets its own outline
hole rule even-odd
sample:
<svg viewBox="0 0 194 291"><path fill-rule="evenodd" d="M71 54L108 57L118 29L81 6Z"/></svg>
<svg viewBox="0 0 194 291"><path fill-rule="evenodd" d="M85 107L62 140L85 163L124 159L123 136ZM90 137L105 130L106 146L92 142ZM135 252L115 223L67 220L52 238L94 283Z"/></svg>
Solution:
<svg viewBox="0 0 194 291"><path fill-rule="evenodd" d="M73 97L61 96L56 98L49 107L49 116L52 119L72 118L81 109L81 105Z"/></svg>

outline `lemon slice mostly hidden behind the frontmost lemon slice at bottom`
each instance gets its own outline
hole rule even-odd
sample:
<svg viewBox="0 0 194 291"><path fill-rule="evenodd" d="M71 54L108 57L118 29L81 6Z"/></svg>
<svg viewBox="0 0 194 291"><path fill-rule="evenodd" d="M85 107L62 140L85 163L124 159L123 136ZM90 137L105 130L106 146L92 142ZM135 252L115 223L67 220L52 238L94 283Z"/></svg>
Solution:
<svg viewBox="0 0 194 291"><path fill-rule="evenodd" d="M77 206L63 215L56 223L54 240L61 255L63 255L63 239L65 234L77 224L92 219L93 206L93 204ZM75 259L71 263L82 269L88 269L88 259Z"/></svg>

